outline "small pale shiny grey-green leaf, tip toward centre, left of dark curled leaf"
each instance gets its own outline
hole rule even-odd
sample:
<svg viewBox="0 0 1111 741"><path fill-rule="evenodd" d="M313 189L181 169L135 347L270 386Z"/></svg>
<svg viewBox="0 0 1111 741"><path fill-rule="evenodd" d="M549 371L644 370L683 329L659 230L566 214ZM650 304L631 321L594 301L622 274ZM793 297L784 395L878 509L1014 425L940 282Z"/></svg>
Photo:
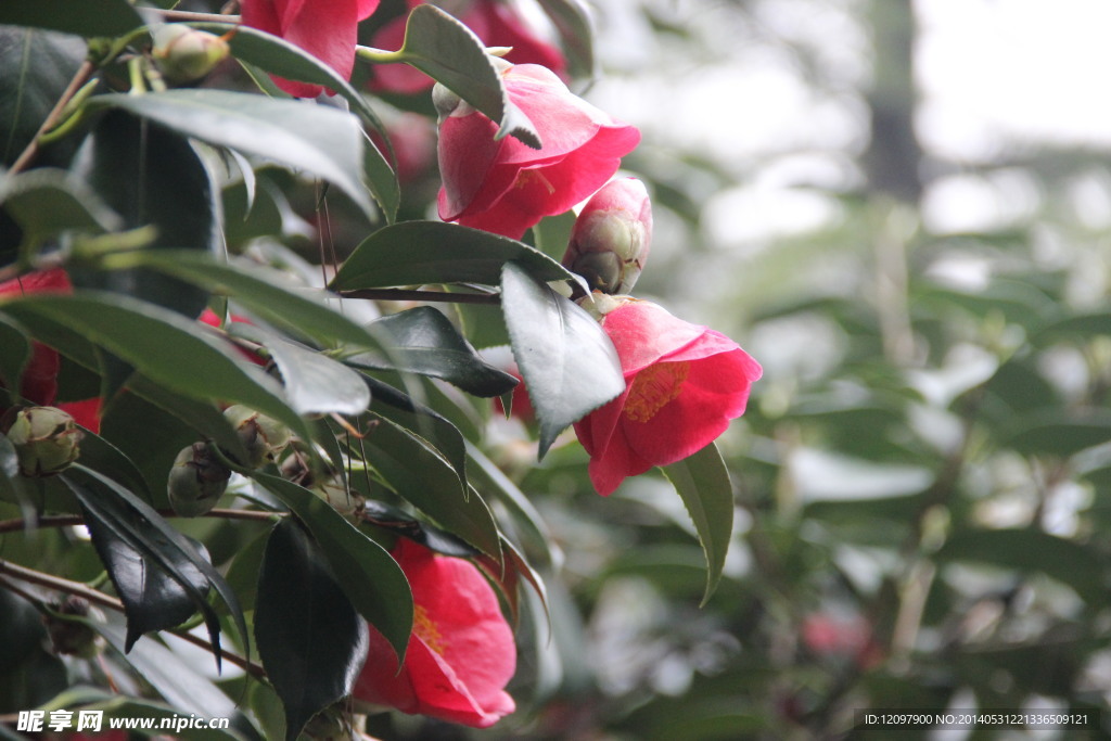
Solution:
<svg viewBox="0 0 1111 741"><path fill-rule="evenodd" d="M357 415L370 405L370 391L358 371L258 327L243 324L236 328L236 333L270 351L286 387L286 399L299 414Z"/></svg>

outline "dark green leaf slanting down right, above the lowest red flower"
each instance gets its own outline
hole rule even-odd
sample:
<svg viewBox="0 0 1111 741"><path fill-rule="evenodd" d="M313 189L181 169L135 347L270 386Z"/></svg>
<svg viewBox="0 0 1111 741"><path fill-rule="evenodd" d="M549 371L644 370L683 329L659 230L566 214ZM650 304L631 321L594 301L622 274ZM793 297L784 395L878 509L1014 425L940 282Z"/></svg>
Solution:
<svg viewBox="0 0 1111 741"><path fill-rule="evenodd" d="M464 491L456 470L427 441L378 419L378 427L362 441L368 462L438 525L490 555L500 555L498 525L478 492Z"/></svg>

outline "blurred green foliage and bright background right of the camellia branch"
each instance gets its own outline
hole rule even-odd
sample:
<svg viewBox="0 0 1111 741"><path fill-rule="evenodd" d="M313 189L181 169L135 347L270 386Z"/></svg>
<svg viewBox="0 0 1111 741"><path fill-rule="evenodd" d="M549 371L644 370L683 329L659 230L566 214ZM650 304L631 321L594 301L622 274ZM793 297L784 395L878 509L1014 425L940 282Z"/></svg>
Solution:
<svg viewBox="0 0 1111 741"><path fill-rule="evenodd" d="M483 738L1105 735L852 728L1111 722L1107 3L593 6L584 94L641 128L654 197L637 294L764 377L719 443L738 528L702 609L662 478L602 500L574 444L523 478L556 632L517 680L536 720Z"/></svg>

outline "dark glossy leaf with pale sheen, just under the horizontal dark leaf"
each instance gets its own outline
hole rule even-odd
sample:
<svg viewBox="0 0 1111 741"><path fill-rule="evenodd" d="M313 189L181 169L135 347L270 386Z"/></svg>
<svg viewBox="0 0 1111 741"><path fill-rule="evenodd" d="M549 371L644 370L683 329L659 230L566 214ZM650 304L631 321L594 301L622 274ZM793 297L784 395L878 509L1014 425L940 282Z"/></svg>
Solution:
<svg viewBox="0 0 1111 741"><path fill-rule="evenodd" d="M352 366L429 375L483 398L501 395L517 385L516 378L482 360L448 318L432 307L383 317L367 330L379 340L386 357L354 356L348 359Z"/></svg>

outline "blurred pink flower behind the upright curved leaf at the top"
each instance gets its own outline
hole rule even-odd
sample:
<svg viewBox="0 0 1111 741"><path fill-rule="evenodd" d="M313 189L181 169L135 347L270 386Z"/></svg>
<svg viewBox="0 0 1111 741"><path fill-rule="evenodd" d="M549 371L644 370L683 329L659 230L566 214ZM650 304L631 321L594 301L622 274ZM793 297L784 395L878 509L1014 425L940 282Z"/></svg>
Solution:
<svg viewBox="0 0 1111 741"><path fill-rule="evenodd" d="M371 39L371 46L390 51L400 49L406 39L408 11L422 4L423 0L407 0L407 12L379 29ZM514 64L540 64L567 80L563 52L538 37L512 4L498 0L476 0L459 12L458 19L486 46L512 47L512 51L506 56L507 61ZM432 78L409 64L377 64L370 89L413 96L430 89L432 83Z"/></svg>

